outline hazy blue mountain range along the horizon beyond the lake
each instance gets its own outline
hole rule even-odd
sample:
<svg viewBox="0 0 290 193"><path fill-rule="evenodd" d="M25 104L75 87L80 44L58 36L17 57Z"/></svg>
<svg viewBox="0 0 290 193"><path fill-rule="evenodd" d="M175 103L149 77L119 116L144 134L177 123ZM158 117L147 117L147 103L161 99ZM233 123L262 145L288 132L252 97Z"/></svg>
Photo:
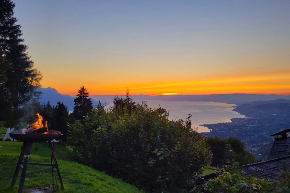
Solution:
<svg viewBox="0 0 290 193"><path fill-rule="evenodd" d="M73 110L74 107L74 97L70 95L62 95L53 88L41 88L42 92L40 101L42 103L51 102L51 105L56 105L57 101L63 102L69 110ZM101 101L102 104L109 104L113 101L115 95L91 95L92 102L94 105ZM119 97L125 97L124 95L119 95ZM159 100L159 101L210 101L210 102L223 102L230 104L247 104L247 103L263 103L263 101L271 100L290 100L289 95L255 95L255 94L217 94L217 95L132 95L134 100L149 101L149 100ZM285 103L285 101L284 101Z"/></svg>

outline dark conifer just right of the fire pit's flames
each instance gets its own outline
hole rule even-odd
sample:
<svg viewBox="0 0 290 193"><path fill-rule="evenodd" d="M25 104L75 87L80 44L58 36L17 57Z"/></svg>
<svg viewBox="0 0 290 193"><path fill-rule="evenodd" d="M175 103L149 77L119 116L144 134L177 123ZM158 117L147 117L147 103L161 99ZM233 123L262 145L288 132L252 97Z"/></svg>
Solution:
<svg viewBox="0 0 290 193"><path fill-rule="evenodd" d="M68 107L65 104L57 102L57 106L53 107L51 123L48 122L48 129L62 132L62 142L68 137Z"/></svg>

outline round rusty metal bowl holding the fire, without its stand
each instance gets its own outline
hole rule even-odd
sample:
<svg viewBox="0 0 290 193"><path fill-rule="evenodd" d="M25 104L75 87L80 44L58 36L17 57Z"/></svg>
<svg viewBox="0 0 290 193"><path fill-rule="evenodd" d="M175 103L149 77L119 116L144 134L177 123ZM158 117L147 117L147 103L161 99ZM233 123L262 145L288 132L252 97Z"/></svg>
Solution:
<svg viewBox="0 0 290 193"><path fill-rule="evenodd" d="M44 142L53 139L58 139L60 131L48 130L48 134L22 134L21 131L12 131L9 133L10 137L23 142Z"/></svg>

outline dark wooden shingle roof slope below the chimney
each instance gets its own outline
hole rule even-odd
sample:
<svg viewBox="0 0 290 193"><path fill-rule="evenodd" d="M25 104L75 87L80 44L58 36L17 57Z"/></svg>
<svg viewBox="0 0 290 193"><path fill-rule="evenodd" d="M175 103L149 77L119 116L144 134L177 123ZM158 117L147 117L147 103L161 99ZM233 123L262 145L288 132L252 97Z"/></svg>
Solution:
<svg viewBox="0 0 290 193"><path fill-rule="evenodd" d="M275 179L278 173L284 166L290 165L290 155L266 160L258 163L251 163L242 166L242 170L247 176L255 176L258 179L272 180Z"/></svg>

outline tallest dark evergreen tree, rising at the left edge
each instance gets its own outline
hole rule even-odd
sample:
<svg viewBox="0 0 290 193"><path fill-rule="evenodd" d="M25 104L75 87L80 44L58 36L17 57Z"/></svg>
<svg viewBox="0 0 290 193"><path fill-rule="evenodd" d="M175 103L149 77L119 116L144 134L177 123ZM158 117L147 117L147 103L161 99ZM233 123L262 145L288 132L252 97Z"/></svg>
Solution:
<svg viewBox="0 0 290 193"><path fill-rule="evenodd" d="M33 68L33 61L27 53L27 46L21 38L21 26L14 17L15 4L11 0L0 1L0 45L5 51L5 58L11 63L7 69L5 89L9 105L16 110L19 106L39 96L41 73Z"/></svg>

